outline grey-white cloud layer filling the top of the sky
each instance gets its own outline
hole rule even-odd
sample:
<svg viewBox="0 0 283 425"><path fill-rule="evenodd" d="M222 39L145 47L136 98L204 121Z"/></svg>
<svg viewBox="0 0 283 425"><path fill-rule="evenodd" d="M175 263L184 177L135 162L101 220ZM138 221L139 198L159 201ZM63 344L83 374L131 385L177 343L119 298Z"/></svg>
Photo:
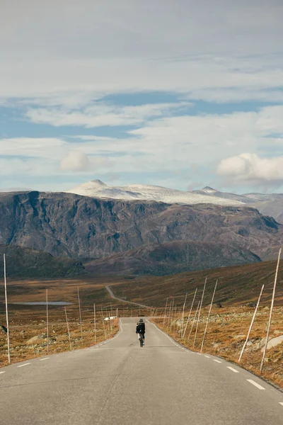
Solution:
<svg viewBox="0 0 283 425"><path fill-rule="evenodd" d="M0 16L0 98L76 106L103 94L175 91L276 100L282 13L279 0L10 0Z"/></svg>

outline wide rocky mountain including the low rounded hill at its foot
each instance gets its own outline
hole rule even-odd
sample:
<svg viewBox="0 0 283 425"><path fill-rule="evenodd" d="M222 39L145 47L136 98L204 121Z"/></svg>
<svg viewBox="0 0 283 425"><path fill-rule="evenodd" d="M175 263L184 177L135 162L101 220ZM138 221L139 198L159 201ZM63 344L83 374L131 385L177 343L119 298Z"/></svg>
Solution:
<svg viewBox="0 0 283 425"><path fill-rule="evenodd" d="M167 274L274 259L283 226L250 204L233 202L0 193L0 244L79 259L91 273Z"/></svg>

